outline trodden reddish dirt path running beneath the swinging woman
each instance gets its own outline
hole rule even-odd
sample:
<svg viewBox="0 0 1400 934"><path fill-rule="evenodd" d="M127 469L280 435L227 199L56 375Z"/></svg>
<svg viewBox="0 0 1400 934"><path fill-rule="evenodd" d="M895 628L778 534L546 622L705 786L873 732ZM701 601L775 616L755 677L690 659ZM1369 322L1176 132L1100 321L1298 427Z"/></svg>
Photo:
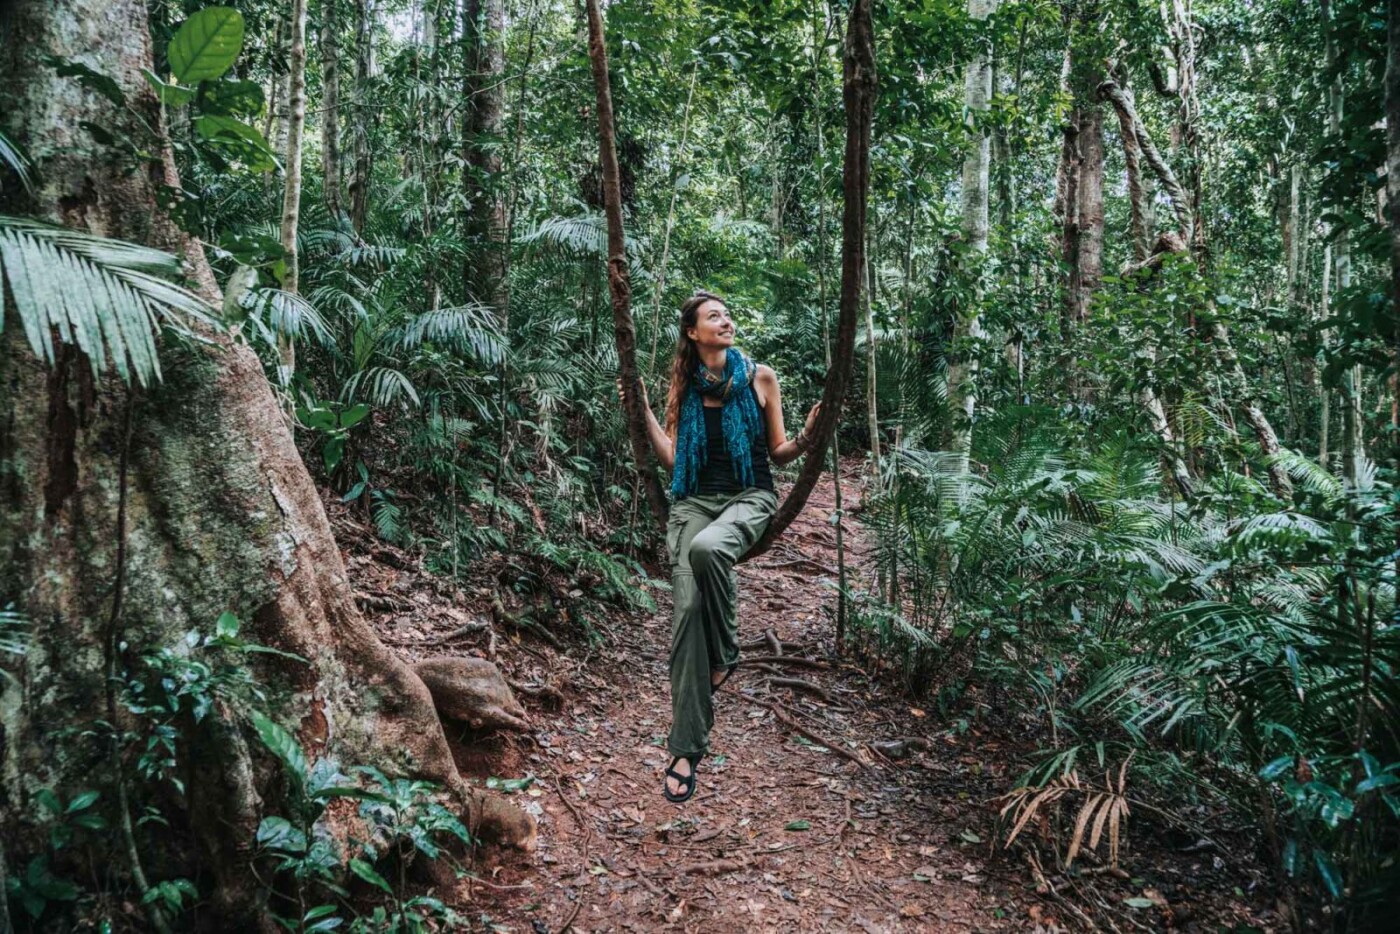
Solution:
<svg viewBox="0 0 1400 934"><path fill-rule="evenodd" d="M844 489L855 486L853 475ZM785 654L827 657L836 597L820 578L836 566L832 510L827 479L780 548L741 567L745 641L771 629L794 644ZM858 529L850 543L864 549ZM986 872L979 830L987 807L972 800L980 790L949 781L960 769L945 763L960 751L939 738L937 758L874 765L869 741L927 731L921 711L881 697L854 668L741 668L717 697L713 756L694 798L666 802L669 633L666 602L609 658L574 675L591 696L575 695L547 721L539 749L517 752L521 772L507 774L539 777L519 795L538 812L539 850L533 871L501 867L494 879L526 888L473 895L491 921L536 931L566 923L575 931L928 931L1009 926L1000 914L1023 924L1025 899ZM829 700L774 678L808 681ZM823 749L781 717L872 765ZM477 749L463 767L508 769L514 758Z"/></svg>

